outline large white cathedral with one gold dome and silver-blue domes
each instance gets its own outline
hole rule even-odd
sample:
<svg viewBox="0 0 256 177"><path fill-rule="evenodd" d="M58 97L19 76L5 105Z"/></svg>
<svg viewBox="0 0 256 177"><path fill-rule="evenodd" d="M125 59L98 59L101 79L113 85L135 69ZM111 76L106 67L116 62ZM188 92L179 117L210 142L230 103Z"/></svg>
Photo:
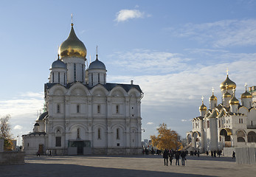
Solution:
<svg viewBox="0 0 256 177"><path fill-rule="evenodd" d="M98 55L86 69L86 46L73 25L44 84L45 111L33 132L22 136L25 153L141 153L142 90L133 80L106 83L107 70Z"/></svg>

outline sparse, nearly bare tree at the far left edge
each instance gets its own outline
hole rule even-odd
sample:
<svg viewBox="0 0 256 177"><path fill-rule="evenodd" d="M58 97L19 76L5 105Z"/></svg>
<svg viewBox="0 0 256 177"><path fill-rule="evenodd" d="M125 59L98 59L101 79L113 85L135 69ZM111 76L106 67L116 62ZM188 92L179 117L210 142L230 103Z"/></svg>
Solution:
<svg viewBox="0 0 256 177"><path fill-rule="evenodd" d="M9 124L10 115L0 119L0 138L4 139L4 150L13 150L13 139Z"/></svg>

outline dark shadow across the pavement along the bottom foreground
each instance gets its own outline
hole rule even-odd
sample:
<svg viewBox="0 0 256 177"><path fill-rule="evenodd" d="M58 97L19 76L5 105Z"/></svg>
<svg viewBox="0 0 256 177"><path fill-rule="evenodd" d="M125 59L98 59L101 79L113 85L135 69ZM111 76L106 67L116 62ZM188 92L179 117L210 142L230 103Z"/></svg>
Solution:
<svg viewBox="0 0 256 177"><path fill-rule="evenodd" d="M88 167L77 164L24 164L24 165L3 165L0 168L1 177L5 176L201 176L185 173L167 173L148 170L128 170L104 167Z"/></svg>

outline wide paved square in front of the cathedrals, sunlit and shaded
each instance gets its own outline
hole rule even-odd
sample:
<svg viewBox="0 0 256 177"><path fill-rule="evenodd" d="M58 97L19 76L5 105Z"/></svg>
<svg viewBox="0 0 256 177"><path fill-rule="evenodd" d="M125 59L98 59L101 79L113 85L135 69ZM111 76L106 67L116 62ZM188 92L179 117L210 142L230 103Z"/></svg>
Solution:
<svg viewBox="0 0 256 177"><path fill-rule="evenodd" d="M170 163L170 162L169 162ZM181 162L180 162L181 163ZM175 160L173 159L173 164ZM255 176L256 164L230 157L187 156L165 166L162 156L26 156L25 164L1 165L0 176Z"/></svg>

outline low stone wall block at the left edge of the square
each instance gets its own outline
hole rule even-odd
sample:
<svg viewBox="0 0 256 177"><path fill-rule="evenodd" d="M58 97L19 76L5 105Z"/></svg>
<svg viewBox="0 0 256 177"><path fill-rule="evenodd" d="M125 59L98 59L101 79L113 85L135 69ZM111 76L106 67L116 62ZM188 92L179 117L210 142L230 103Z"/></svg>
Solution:
<svg viewBox="0 0 256 177"><path fill-rule="evenodd" d="M24 164L24 152L0 153L0 164Z"/></svg>

